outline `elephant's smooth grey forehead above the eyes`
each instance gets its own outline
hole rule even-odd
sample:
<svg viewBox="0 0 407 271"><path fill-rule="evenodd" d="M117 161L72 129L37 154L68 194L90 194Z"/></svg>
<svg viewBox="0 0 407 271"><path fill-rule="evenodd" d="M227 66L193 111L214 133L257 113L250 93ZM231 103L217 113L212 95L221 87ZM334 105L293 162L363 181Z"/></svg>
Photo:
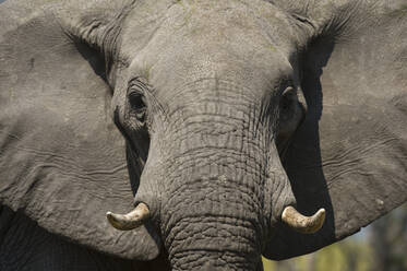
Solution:
<svg viewBox="0 0 407 271"><path fill-rule="evenodd" d="M145 75L158 91L202 78L220 78L263 91L274 79L291 72L289 40L277 32L287 25L283 15L274 15L271 23L236 2L197 2L201 4L171 7L139 51L133 49L137 45L132 31L124 32L123 50L132 56L131 74Z"/></svg>

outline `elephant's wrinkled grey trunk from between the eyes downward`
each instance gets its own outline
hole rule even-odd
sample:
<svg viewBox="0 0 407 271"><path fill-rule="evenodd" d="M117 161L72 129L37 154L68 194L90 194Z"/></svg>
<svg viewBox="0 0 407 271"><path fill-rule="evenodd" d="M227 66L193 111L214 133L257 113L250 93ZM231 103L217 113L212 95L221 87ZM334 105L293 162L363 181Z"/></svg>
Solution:
<svg viewBox="0 0 407 271"><path fill-rule="evenodd" d="M159 219L169 260L172 270L262 270L271 190L283 205L294 197L279 172L271 180L270 157L278 154L259 108L242 91L207 93L187 96L193 101L170 113L166 136L152 145L160 163L151 172L165 176Z"/></svg>

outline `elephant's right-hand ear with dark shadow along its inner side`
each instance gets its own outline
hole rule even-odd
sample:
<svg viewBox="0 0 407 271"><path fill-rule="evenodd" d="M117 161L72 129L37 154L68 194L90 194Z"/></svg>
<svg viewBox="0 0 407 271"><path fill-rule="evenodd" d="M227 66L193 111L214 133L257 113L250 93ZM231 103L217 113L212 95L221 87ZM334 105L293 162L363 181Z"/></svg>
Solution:
<svg viewBox="0 0 407 271"><path fill-rule="evenodd" d="M302 59L308 113L285 157L298 210L325 208L325 224L312 235L280 225L267 258L312 252L407 200L407 7L352 13Z"/></svg>

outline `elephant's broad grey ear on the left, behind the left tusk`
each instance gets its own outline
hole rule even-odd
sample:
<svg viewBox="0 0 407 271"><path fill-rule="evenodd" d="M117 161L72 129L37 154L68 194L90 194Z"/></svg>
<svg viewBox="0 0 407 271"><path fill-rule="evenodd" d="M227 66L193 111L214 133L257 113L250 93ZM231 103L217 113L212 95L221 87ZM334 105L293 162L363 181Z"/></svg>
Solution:
<svg viewBox="0 0 407 271"><path fill-rule="evenodd" d="M0 4L0 204L74 243L153 259L151 225L119 232L106 220L131 210L133 192L104 60L33 5Z"/></svg>

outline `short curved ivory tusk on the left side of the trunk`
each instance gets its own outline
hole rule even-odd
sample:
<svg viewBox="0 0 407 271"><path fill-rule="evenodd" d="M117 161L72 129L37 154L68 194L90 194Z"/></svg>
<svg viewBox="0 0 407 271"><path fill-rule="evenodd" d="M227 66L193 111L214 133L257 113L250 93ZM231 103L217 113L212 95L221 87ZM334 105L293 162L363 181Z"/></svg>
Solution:
<svg viewBox="0 0 407 271"><path fill-rule="evenodd" d="M117 229L130 231L144 224L149 217L149 210L146 204L139 203L139 205L128 214L107 212L106 216L109 223Z"/></svg>

